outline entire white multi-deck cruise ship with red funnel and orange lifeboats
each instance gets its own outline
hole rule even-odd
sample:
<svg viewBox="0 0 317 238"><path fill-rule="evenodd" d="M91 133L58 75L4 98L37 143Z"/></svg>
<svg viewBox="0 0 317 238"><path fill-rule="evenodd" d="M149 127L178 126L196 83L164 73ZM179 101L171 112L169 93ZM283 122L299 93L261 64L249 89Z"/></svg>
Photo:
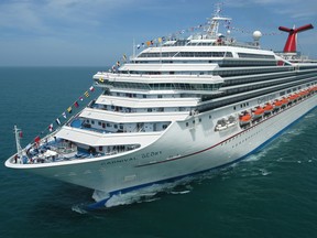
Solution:
<svg viewBox="0 0 317 238"><path fill-rule="evenodd" d="M6 166L112 195L177 181L245 159L317 106L317 62L296 51L263 50L262 33L242 43L208 28L150 42L129 61L94 75L101 94L64 126L22 149ZM286 35L285 35L286 37Z"/></svg>

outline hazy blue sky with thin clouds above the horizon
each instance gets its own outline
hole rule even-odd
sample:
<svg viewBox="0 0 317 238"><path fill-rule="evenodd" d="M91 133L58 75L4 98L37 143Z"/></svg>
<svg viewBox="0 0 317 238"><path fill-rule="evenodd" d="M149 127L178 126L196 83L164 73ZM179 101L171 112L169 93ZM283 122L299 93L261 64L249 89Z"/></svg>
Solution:
<svg viewBox="0 0 317 238"><path fill-rule="evenodd" d="M317 58L316 0L223 0L231 36L282 51L286 28L311 23L297 50ZM203 24L214 0L1 0L0 66L109 66L134 44ZM226 29L223 29L226 32Z"/></svg>

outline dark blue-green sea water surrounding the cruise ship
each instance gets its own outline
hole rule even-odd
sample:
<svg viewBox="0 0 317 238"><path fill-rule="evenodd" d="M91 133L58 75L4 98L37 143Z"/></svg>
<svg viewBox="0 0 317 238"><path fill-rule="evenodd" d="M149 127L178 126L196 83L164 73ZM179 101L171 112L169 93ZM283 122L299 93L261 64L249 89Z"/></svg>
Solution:
<svg viewBox="0 0 317 238"><path fill-rule="evenodd" d="M26 145L101 69L0 68L1 238L317 237L317 110L239 164L109 209L83 213L90 190L4 167L13 126Z"/></svg>

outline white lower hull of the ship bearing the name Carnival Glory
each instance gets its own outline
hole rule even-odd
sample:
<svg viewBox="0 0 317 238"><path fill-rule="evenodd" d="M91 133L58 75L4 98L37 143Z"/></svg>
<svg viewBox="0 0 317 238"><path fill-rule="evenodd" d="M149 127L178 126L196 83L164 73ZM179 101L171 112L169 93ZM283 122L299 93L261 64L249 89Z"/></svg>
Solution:
<svg viewBox="0 0 317 238"><path fill-rule="evenodd" d="M21 164L15 169L102 194L124 193L236 163L275 139L316 105L315 94L249 128L241 129L236 125L223 131L215 131L217 118L210 119L205 113L199 116L200 120L195 126L174 122L157 141L130 153L61 163ZM190 121L195 120L193 117ZM103 197L95 199L100 202Z"/></svg>

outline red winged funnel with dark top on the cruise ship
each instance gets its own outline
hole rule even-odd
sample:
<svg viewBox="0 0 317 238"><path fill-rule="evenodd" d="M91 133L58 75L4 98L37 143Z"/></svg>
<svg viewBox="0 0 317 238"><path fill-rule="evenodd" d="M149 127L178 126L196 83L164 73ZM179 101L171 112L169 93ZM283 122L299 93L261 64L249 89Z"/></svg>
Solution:
<svg viewBox="0 0 317 238"><path fill-rule="evenodd" d="M280 31L288 32L288 37L284 46L284 53L296 53L297 33L306 31L306 30L310 30L310 29L314 29L311 24L306 24L297 29L295 29L295 26L293 29L280 26L278 28Z"/></svg>

